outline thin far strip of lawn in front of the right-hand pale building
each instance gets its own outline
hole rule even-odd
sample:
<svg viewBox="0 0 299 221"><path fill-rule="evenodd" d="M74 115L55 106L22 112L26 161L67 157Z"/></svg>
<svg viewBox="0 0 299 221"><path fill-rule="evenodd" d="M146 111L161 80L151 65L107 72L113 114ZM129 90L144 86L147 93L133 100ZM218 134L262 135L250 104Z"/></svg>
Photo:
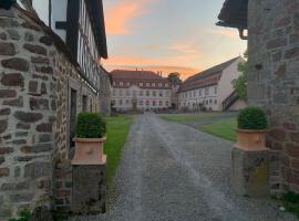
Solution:
<svg viewBox="0 0 299 221"><path fill-rule="evenodd" d="M169 122L186 123L186 122L207 120L218 115L220 114L219 113L164 114L164 115L161 115L161 118L169 120Z"/></svg>

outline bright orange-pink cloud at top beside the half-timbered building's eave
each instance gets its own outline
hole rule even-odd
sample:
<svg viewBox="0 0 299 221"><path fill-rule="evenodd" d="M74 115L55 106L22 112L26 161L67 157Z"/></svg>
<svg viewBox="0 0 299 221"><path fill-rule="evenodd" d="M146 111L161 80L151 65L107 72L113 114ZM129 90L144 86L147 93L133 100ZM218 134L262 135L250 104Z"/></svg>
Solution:
<svg viewBox="0 0 299 221"><path fill-rule="evenodd" d="M107 34L131 34L132 21L147 11L147 4L157 0L121 0L109 4L105 9L105 25Z"/></svg>

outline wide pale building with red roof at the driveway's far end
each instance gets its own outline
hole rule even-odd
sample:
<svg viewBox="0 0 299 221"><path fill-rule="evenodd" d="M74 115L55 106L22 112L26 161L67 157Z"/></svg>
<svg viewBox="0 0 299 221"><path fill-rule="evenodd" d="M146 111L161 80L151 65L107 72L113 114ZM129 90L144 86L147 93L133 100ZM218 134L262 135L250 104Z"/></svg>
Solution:
<svg viewBox="0 0 299 221"><path fill-rule="evenodd" d="M155 110L172 107L172 85L161 74L115 70L111 75L111 99L116 110Z"/></svg>

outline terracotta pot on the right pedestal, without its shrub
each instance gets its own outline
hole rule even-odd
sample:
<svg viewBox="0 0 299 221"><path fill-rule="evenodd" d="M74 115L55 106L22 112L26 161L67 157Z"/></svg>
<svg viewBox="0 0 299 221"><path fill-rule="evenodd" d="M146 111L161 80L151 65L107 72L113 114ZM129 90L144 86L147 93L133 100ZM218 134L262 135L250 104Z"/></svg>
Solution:
<svg viewBox="0 0 299 221"><path fill-rule="evenodd" d="M237 129L236 147L244 150L265 150L267 130Z"/></svg>

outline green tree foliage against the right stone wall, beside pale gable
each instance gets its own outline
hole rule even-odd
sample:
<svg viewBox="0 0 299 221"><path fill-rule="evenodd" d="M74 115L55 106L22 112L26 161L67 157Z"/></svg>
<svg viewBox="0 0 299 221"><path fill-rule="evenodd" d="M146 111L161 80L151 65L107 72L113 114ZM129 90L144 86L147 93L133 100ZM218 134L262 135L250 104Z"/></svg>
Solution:
<svg viewBox="0 0 299 221"><path fill-rule="evenodd" d="M248 77L248 53L244 53L245 61L240 62L238 65L238 71L241 75L231 82L234 88L236 90L238 96L243 101L247 101L247 77Z"/></svg>

